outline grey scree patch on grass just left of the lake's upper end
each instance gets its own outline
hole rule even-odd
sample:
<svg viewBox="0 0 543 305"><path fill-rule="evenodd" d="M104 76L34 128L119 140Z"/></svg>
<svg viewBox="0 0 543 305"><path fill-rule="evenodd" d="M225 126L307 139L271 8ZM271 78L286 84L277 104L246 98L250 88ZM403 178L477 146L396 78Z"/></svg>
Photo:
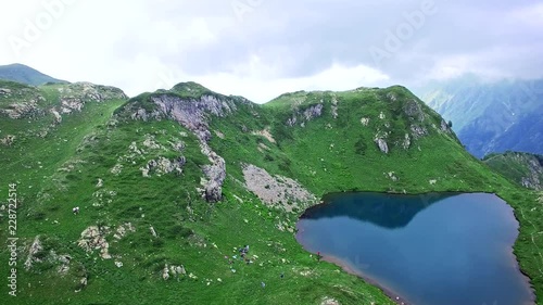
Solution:
<svg viewBox="0 0 543 305"><path fill-rule="evenodd" d="M265 204L292 212L294 207L303 207L316 202L316 196L293 179L272 176L265 169L251 164L242 165L242 170L245 188Z"/></svg>

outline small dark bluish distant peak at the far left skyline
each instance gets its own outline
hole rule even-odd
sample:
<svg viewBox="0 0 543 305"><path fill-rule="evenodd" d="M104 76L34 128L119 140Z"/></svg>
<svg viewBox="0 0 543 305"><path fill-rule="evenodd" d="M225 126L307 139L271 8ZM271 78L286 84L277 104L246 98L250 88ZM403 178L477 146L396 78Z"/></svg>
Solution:
<svg viewBox="0 0 543 305"><path fill-rule="evenodd" d="M0 65L0 79L31 86L39 86L47 82L68 82L66 80L46 75L23 64Z"/></svg>

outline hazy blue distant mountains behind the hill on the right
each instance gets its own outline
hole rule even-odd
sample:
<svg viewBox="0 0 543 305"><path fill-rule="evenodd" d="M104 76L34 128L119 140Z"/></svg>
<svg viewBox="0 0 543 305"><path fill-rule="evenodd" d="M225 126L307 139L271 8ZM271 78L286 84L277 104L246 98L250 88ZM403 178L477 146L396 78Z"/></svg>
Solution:
<svg viewBox="0 0 543 305"><path fill-rule="evenodd" d="M475 76L434 82L416 93L478 157L493 152L543 154L543 79L483 82Z"/></svg>

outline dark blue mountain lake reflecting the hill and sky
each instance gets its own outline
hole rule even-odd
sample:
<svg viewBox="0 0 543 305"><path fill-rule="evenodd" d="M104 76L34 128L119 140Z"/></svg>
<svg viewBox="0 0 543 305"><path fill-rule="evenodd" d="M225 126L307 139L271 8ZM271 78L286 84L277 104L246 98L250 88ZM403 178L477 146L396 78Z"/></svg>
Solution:
<svg viewBox="0 0 543 305"><path fill-rule="evenodd" d="M307 209L298 241L415 305L533 304L513 254L518 221L485 193L341 193Z"/></svg>

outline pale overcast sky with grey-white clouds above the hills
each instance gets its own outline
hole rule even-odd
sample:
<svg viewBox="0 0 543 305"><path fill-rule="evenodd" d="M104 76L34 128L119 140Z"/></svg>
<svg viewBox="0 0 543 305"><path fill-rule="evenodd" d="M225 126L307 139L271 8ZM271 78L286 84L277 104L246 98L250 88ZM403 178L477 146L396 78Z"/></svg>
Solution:
<svg viewBox="0 0 543 305"><path fill-rule="evenodd" d="M543 76L532 0L0 0L0 64L129 96L193 80L262 103L464 73Z"/></svg>

